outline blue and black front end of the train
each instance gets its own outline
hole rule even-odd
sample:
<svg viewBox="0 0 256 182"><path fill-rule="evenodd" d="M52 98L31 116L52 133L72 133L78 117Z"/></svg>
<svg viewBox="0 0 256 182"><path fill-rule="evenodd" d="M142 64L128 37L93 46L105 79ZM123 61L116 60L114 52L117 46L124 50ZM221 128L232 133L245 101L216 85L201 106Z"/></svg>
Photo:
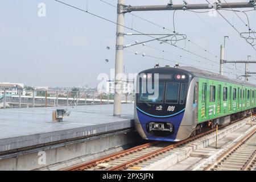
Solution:
<svg viewBox="0 0 256 182"><path fill-rule="evenodd" d="M134 123L142 138L177 142L191 136L196 123L195 80L179 68L154 68L139 73Z"/></svg>

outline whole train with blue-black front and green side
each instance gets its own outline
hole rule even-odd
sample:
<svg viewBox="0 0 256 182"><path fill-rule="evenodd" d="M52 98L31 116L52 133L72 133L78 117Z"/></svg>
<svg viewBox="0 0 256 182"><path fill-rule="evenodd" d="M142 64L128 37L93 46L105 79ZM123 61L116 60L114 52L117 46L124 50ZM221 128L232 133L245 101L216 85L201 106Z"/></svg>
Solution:
<svg viewBox="0 0 256 182"><path fill-rule="evenodd" d="M134 123L143 139L178 142L255 107L256 85L193 67L158 67L138 75Z"/></svg>

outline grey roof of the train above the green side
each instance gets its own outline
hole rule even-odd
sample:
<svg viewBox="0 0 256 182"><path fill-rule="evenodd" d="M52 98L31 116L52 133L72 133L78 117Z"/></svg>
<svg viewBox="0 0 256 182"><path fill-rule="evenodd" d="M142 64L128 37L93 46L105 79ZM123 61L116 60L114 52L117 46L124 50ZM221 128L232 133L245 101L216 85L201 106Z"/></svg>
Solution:
<svg viewBox="0 0 256 182"><path fill-rule="evenodd" d="M183 69L184 71L188 71L188 72L192 73L193 75L195 75L196 77L209 78L209 79L212 79L212 80L220 80L220 81L226 81L226 82L241 84L241 85L244 85L244 86L254 86L254 87L256 87L255 84L251 84L249 82L243 82L243 81L235 80L235 79L220 75L218 73L204 71L204 70L197 69L197 68L194 68L194 67L179 67L179 69Z"/></svg>

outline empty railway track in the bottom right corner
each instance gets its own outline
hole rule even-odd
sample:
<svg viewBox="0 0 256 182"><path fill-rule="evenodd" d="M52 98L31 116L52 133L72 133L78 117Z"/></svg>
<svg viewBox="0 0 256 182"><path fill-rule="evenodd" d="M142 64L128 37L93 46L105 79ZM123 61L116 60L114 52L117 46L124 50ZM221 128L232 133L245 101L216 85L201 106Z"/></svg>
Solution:
<svg viewBox="0 0 256 182"><path fill-rule="evenodd" d="M256 129L219 156L204 171L250 171L256 170Z"/></svg>

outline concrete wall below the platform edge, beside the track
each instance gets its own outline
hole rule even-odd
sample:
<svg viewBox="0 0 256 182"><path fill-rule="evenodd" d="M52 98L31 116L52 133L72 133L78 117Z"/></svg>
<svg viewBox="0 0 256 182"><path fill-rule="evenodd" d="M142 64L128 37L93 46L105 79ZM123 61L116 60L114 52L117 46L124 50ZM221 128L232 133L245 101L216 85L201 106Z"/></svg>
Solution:
<svg viewBox="0 0 256 182"><path fill-rule="evenodd" d="M83 143L0 160L0 170L60 169L72 166L74 161L77 163L85 162L121 150L122 148L133 146L138 144L138 142L142 142L142 139L135 132L88 140ZM43 164L44 161L46 164Z"/></svg>

